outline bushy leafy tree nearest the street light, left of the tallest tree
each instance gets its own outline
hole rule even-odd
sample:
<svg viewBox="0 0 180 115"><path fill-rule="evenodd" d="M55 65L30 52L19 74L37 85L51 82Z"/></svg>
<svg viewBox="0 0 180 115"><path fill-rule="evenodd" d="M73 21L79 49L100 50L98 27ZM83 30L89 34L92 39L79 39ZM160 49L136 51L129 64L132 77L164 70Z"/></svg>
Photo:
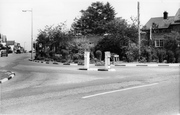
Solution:
<svg viewBox="0 0 180 115"><path fill-rule="evenodd" d="M41 53L46 54L45 57L60 53L61 48L72 38L71 34L64 31L65 26L65 23L60 23L57 26L46 26L44 30L40 30L37 37L37 53L41 50Z"/></svg>

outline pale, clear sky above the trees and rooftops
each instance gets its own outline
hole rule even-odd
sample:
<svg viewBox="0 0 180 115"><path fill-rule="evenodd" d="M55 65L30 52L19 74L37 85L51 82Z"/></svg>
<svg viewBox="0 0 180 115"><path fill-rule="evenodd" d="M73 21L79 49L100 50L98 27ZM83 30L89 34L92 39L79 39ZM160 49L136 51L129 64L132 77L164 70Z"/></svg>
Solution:
<svg viewBox="0 0 180 115"><path fill-rule="evenodd" d="M151 17L162 17L167 11L175 16L180 8L179 0L0 0L0 33L8 40L15 40L25 47L31 48L31 12L33 9L33 40L40 29L46 25L57 25L65 22L67 29L73 20L80 17L81 10L86 10L92 2L109 2L115 9L116 17L130 21L137 17L137 2L140 2L140 23L145 25Z"/></svg>

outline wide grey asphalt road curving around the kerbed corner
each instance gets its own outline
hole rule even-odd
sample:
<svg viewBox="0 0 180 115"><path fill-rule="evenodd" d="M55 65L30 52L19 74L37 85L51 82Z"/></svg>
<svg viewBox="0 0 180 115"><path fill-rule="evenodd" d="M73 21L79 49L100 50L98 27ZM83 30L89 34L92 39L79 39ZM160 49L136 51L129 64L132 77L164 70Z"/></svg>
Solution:
<svg viewBox="0 0 180 115"><path fill-rule="evenodd" d="M79 66L28 61L30 54L0 58L16 76L1 88L1 114L177 115L179 67L113 67L115 72L81 71ZM7 61L7 63L5 62Z"/></svg>

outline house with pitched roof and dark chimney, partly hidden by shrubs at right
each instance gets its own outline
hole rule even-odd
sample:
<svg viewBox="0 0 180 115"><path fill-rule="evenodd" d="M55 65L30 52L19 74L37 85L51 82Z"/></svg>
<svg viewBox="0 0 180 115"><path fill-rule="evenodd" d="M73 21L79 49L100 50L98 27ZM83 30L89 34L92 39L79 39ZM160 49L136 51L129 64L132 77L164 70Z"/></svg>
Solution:
<svg viewBox="0 0 180 115"><path fill-rule="evenodd" d="M168 12L163 13L163 17L151 18L142 28L146 32L149 40L154 41L155 47L163 47L164 35L177 31L180 33L180 8L175 16L168 16Z"/></svg>

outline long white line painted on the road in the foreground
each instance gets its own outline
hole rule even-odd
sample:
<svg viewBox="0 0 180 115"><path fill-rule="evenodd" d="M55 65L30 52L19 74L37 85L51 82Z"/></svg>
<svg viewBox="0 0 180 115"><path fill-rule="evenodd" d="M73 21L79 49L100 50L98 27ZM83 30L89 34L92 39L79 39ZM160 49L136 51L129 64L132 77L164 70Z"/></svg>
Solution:
<svg viewBox="0 0 180 115"><path fill-rule="evenodd" d="M115 92L120 92L120 91L126 91L126 90L131 90L131 89L137 89L137 88L142 88L142 87L153 86L153 85L157 85L157 84L159 84L159 83L153 83L153 84L148 84L148 85L135 86L135 87L125 88L125 89L119 89L119 90L113 90L113 91L108 91L108 92L103 92L103 93L97 93L97 94L93 94L93 95L89 95L89 96L84 96L84 97L82 97L82 98L83 98L83 99L86 99L86 98L96 97L96 96L105 95L105 94L110 94L110 93L115 93Z"/></svg>

